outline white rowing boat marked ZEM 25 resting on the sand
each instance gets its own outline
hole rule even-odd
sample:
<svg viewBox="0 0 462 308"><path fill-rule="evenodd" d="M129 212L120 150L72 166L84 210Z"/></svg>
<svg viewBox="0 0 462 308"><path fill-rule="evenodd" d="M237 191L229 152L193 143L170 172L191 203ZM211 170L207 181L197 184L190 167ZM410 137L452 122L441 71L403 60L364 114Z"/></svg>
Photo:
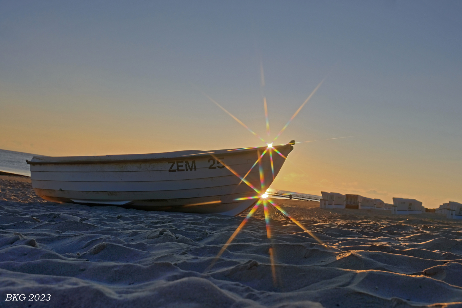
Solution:
<svg viewBox="0 0 462 308"><path fill-rule="evenodd" d="M286 145L106 156L35 156L30 178L43 199L235 216L279 173Z"/></svg>

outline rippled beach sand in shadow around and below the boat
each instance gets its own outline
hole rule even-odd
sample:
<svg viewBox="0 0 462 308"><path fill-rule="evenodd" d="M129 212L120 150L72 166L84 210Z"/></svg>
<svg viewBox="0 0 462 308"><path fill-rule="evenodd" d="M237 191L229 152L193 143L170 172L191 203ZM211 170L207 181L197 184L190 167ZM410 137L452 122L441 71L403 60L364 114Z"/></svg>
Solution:
<svg viewBox="0 0 462 308"><path fill-rule="evenodd" d="M272 208L268 240L259 209L210 267L245 213L57 204L8 175L0 192L0 307L462 307L462 224L438 214L274 199L323 244Z"/></svg>

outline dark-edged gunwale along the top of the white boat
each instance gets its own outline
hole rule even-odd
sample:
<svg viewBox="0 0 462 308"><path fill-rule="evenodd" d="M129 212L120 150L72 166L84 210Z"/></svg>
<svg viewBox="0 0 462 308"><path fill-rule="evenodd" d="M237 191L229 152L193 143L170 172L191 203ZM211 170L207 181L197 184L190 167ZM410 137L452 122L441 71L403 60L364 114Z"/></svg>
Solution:
<svg viewBox="0 0 462 308"><path fill-rule="evenodd" d="M286 147L286 146L292 146L292 142L288 143L286 145L274 145L273 148L281 148L281 147ZM206 153L198 153L198 154L186 154L182 156L172 156L172 157L152 157L152 158L135 158L135 159L117 159L117 160L66 160L66 161L33 161L34 159L41 157L42 159L47 156L34 156L32 157L32 160L28 161L26 160L26 163L30 165L36 165L36 164L68 164L68 165L74 165L74 164L97 164L97 163L147 163L147 162L162 162L162 161L168 161L171 159L178 159L178 158L203 158L203 157L213 157L213 156L231 156L231 155L236 155L236 154L243 154L243 153L248 153L248 152L253 152L253 151L258 151L258 150L264 150L267 149L266 146L261 146L261 147L255 147L251 149L229 149L229 150L216 150L213 153L206 152ZM232 151L232 152L229 152ZM165 152L165 153L171 153L171 152ZM152 153L152 154L157 154L157 153ZM159 153L160 154L160 153ZM118 155L118 154L116 154ZM140 154L120 154L120 155L140 155ZM143 155L143 154L141 154ZM149 155L149 154L147 154ZM102 156L97 156L97 157L110 157L112 155L102 155ZM49 157L49 156L48 156ZM70 156L72 157L72 156ZM85 156L73 156L73 157L85 157ZM49 158L55 158L55 157L49 157ZM60 157L61 158L61 157Z"/></svg>

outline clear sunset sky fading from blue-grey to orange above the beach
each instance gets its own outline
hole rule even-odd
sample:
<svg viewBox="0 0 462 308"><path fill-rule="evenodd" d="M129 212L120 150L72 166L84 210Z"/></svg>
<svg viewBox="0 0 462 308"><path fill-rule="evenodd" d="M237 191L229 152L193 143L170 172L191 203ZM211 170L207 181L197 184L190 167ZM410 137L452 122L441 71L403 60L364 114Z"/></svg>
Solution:
<svg viewBox="0 0 462 308"><path fill-rule="evenodd" d="M0 148L263 146L205 94L272 140L324 80L276 143L316 141L272 188L462 203L461 15L460 1L0 0Z"/></svg>

